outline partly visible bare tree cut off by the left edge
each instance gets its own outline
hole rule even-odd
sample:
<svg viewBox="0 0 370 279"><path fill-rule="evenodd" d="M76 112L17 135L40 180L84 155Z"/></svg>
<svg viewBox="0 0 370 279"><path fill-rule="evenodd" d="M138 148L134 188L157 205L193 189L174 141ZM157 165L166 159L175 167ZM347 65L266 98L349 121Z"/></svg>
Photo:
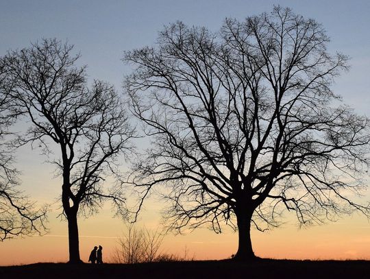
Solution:
<svg viewBox="0 0 370 279"><path fill-rule="evenodd" d="M15 236L45 232L47 207L36 209L18 186L18 171L13 167L14 150L6 145L9 125L15 120L9 108L5 71L0 60L0 241ZM14 112L14 111L13 111Z"/></svg>

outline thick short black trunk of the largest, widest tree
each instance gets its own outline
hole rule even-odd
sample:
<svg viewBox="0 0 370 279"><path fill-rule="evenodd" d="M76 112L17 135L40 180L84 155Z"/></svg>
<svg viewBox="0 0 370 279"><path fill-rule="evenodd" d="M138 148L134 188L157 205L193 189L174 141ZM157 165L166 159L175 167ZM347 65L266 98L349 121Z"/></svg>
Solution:
<svg viewBox="0 0 370 279"><path fill-rule="evenodd" d="M239 242L238 252L234 256L235 260L248 261L256 258L251 245L251 216L252 213L245 210L236 213Z"/></svg>

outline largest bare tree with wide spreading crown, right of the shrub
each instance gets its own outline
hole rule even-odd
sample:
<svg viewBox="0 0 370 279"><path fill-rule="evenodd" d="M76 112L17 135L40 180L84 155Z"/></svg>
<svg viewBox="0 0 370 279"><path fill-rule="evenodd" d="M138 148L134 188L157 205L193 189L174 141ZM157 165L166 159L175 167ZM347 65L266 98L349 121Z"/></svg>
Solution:
<svg viewBox="0 0 370 279"><path fill-rule="evenodd" d="M225 222L248 260L251 225L277 226L283 210L301 224L369 216L351 195L364 186L369 119L330 89L347 57L328 42L316 21L275 7L219 32L175 23L156 47L125 53L125 88L152 140L133 182L145 195L167 186L171 228Z"/></svg>

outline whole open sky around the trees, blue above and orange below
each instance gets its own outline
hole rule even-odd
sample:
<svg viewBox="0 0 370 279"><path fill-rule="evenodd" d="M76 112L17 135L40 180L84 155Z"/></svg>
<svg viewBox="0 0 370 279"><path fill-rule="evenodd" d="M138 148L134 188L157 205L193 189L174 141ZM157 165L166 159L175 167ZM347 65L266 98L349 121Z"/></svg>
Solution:
<svg viewBox="0 0 370 279"><path fill-rule="evenodd" d="M331 42L330 51L351 58L351 69L334 84L334 92L359 114L370 116L370 1L367 0L0 0L0 56L9 49L28 47L41 38L68 40L82 54L79 63L88 66L91 80L110 82L122 91L123 75L130 67L123 64L123 51L153 45L164 25L183 21L205 26L212 31L226 17L243 21L247 16L269 12L273 5L289 7L293 12L322 23ZM38 150L18 151L16 167L22 171L21 189L38 204L53 203L49 214L49 233L0 243L0 265L68 260L66 222L60 221L58 202L60 178ZM365 193L364 201L370 195ZM150 199L136 226L156 230L163 202ZM126 224L112 217L110 206L89 219L80 219L80 253L87 261L95 245L104 247L109 261ZM257 256L269 258L370 259L370 224L365 217L352 215L335 223L299 229L286 215L282 228L252 232ZM225 230L215 234L199 229L184 235L165 236L162 251L195 259L227 258L236 252L237 234ZM4 256L6 255L6 256Z"/></svg>

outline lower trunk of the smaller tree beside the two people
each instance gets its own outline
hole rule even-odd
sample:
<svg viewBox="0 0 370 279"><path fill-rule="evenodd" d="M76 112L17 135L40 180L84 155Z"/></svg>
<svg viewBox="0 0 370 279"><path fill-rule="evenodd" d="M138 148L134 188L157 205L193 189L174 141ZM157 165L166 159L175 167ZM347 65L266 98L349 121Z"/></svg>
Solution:
<svg viewBox="0 0 370 279"><path fill-rule="evenodd" d="M82 263L79 258L79 239L77 226L77 212L71 210L67 215L68 220L68 239L69 239L69 263Z"/></svg>

